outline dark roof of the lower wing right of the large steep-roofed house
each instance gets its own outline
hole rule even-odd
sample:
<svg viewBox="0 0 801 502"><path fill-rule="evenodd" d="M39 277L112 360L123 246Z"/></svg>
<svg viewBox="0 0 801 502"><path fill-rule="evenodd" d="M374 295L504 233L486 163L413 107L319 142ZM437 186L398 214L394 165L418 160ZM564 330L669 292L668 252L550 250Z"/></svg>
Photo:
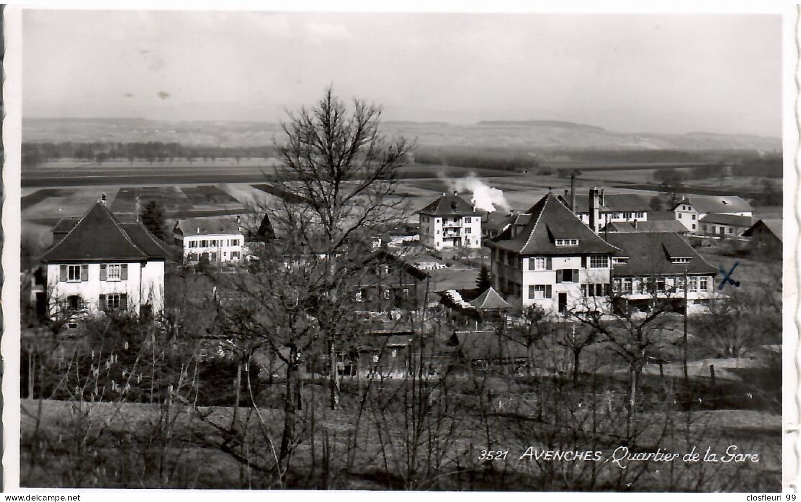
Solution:
<svg viewBox="0 0 801 502"><path fill-rule="evenodd" d="M612 267L613 277L652 275L714 275L718 272L695 252L678 233L610 233L611 244L622 249L615 256L628 257L625 264ZM689 257L690 263L672 263L670 258Z"/></svg>

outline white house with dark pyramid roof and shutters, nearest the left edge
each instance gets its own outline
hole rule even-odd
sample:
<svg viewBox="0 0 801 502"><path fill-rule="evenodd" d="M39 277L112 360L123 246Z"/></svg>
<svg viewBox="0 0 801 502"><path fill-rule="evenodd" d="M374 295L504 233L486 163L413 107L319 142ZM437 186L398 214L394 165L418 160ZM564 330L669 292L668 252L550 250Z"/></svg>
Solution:
<svg viewBox="0 0 801 502"><path fill-rule="evenodd" d="M54 228L54 245L41 258L46 289L37 293L50 317L164 308L170 250L139 221L119 221L104 199Z"/></svg>

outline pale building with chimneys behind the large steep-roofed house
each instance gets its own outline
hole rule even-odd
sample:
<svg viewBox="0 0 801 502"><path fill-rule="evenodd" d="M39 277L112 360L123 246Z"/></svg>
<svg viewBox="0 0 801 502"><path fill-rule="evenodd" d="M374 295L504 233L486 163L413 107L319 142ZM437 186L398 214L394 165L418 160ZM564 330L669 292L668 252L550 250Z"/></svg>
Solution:
<svg viewBox="0 0 801 502"><path fill-rule="evenodd" d="M564 196L559 196L559 200L570 207L567 190ZM648 221L650 205L645 198L634 193L606 194L603 189L593 187L586 200L586 204L576 201L574 214L594 232L616 221Z"/></svg>

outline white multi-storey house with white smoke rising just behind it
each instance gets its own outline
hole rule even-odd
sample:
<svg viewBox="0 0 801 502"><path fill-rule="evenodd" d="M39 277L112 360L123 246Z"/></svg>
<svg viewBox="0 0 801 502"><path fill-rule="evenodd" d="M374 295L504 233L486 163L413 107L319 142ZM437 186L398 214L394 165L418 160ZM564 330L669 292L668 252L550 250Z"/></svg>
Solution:
<svg viewBox="0 0 801 502"><path fill-rule="evenodd" d="M443 193L418 213L422 245L433 249L481 247L482 213L458 193Z"/></svg>

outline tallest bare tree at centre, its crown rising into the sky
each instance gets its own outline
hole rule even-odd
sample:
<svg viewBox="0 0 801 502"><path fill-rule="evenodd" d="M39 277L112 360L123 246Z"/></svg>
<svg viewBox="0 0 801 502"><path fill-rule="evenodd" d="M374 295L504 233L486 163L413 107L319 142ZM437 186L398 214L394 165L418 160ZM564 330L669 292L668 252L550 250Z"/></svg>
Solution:
<svg viewBox="0 0 801 502"><path fill-rule="evenodd" d="M348 110L329 87L312 108L288 113L288 121L281 124L284 142L276 142L281 165L276 168L275 184L280 193L299 199L292 210L308 217L305 241L310 253L327 262L330 305L338 302L330 283L348 246L380 225L396 221L403 207L403 201L393 196L397 171L412 145L404 138L388 141L380 133L380 114L380 108L359 99ZM279 225L287 216L286 211L270 215ZM330 404L336 408L336 316L321 317L320 322L331 359Z"/></svg>

